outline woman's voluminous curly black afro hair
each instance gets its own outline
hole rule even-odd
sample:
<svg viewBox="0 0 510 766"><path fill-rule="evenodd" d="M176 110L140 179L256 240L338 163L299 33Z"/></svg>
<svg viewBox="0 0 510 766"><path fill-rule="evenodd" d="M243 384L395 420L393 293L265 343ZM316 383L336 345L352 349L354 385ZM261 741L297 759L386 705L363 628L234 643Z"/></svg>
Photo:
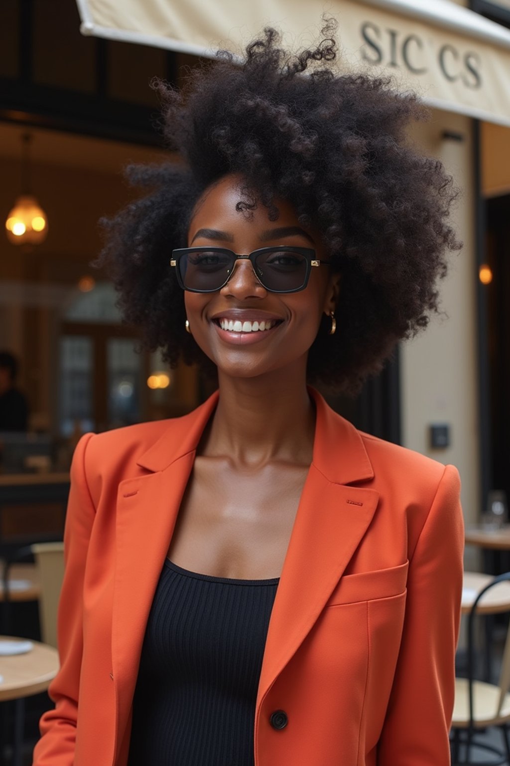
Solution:
<svg viewBox="0 0 510 766"><path fill-rule="evenodd" d="M213 366L185 332L184 293L169 262L174 247L187 247L200 195L230 173L242 175L251 204L265 205L270 220L278 217L274 199L289 201L302 225L320 231L343 275L338 329L329 336L323 317L309 381L357 391L399 339L438 311L446 252L461 245L447 220L452 179L406 136L428 111L391 77L338 74L335 34L336 21L326 19L317 46L291 54L265 28L242 61L219 51L180 90L153 83L167 146L180 159L126 169L148 195L102 221L106 244L94 265L108 268L125 321L141 328L141 347L161 348L171 367L180 358Z"/></svg>

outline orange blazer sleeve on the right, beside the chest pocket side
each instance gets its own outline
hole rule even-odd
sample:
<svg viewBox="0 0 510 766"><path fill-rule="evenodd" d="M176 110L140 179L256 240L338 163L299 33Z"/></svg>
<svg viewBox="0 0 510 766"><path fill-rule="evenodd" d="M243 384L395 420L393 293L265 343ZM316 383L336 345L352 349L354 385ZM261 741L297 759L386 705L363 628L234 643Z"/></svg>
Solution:
<svg viewBox="0 0 510 766"><path fill-rule="evenodd" d="M404 630L378 766L449 766L463 584L460 479L446 466L410 558Z"/></svg>

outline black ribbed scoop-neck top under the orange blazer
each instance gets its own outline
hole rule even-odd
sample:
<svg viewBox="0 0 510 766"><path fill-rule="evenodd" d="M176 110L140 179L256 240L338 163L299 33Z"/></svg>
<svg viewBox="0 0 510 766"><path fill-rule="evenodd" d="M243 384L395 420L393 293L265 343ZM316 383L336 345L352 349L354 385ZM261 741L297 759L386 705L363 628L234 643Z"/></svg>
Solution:
<svg viewBox="0 0 510 766"><path fill-rule="evenodd" d="M250 766L278 578L200 575L168 559L133 702L128 766Z"/></svg>

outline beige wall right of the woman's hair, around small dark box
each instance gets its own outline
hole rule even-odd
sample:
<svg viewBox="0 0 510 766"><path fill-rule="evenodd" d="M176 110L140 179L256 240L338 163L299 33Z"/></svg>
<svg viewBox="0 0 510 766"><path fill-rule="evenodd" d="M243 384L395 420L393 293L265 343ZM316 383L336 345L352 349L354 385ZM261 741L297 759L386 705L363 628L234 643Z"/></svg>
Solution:
<svg viewBox="0 0 510 766"><path fill-rule="evenodd" d="M463 142L443 139L446 129L461 133ZM451 255L450 273L441 286L448 316L434 317L426 332L402 348L403 441L406 447L459 469L469 523L480 510L472 124L468 117L434 111L430 122L417 126L412 135L417 146L443 161L461 189L453 225L464 247ZM450 424L447 449L430 449L432 423Z"/></svg>

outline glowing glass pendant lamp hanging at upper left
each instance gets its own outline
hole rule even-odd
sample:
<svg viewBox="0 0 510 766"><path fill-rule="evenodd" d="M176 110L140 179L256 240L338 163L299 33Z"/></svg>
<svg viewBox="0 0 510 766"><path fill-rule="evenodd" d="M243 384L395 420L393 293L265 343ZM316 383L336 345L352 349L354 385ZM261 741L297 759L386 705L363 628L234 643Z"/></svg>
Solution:
<svg viewBox="0 0 510 766"><path fill-rule="evenodd" d="M23 156L21 159L21 191L15 206L9 212L5 229L7 238L13 244L40 244L46 239L48 231L47 214L41 208L34 195L30 193L30 157L31 136L22 136Z"/></svg>

